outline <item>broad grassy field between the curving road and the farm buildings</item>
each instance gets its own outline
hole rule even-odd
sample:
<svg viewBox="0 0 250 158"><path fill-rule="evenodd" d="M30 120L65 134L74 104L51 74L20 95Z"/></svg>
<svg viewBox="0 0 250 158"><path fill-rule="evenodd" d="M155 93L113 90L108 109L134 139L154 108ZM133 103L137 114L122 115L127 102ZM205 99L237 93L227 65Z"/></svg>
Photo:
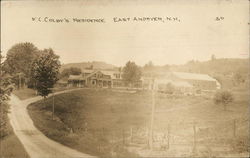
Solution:
<svg viewBox="0 0 250 158"><path fill-rule="evenodd" d="M203 136L204 129L209 129L210 132L205 135L216 136L216 141L212 143L226 144L232 148L237 143L243 143L243 149L239 150L246 152L244 147L248 142L243 140L248 139L248 94L245 89L234 90L235 101L224 111L222 106L213 103L211 97L177 97L158 93L155 99L154 133L166 133L170 126L171 140L175 139L170 143L178 144L181 143L178 141L184 140L190 146L195 122L200 144L204 145L202 141L212 141ZM84 89L55 96L54 120L51 118L52 98L33 103L28 110L35 126L62 144L92 155L136 157L138 152L131 150L131 146L135 145L136 150L139 150L138 146L147 150L145 131L150 123L151 101L150 92L119 93L108 89ZM232 123L235 119L237 139L232 144ZM173 146L172 149L177 150Z"/></svg>

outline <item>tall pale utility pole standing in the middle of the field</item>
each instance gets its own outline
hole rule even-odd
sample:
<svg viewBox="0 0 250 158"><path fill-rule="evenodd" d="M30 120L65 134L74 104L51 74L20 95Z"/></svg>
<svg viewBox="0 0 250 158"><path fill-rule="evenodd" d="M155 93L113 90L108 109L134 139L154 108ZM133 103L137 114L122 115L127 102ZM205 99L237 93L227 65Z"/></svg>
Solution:
<svg viewBox="0 0 250 158"><path fill-rule="evenodd" d="M155 81L153 79L151 123L150 123L150 131L149 131L149 149L151 149L151 150L153 148L154 113L155 113Z"/></svg>

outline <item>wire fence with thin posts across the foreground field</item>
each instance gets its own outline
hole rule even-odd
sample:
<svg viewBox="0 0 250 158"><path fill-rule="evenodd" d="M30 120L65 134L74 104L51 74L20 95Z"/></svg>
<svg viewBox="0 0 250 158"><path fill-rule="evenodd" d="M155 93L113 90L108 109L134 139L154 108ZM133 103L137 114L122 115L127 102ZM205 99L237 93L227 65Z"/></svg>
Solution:
<svg viewBox="0 0 250 158"><path fill-rule="evenodd" d="M233 142L248 129L248 119L232 119L227 121L192 121L161 122L153 129L152 151L175 152L185 155L211 156L213 154L232 153ZM123 129L96 129L94 137L100 143L100 150L105 150L106 143L112 148L136 148L148 150L149 126L137 125ZM105 142L106 143L101 143ZM247 142L248 143L248 142ZM103 146L102 146L103 145ZM248 145L248 144L245 144ZM180 155L183 156L183 155Z"/></svg>

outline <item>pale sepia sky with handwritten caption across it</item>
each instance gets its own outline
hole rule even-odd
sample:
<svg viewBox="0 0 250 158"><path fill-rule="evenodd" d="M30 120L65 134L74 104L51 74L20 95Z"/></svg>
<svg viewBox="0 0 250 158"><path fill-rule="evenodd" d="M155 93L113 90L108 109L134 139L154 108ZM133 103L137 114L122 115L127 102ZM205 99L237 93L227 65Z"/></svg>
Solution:
<svg viewBox="0 0 250 158"><path fill-rule="evenodd" d="M117 22L121 18L130 20ZM149 61L184 64L209 60L212 54L248 58L248 22L248 0L1 1L1 50L6 54L16 43L31 42L39 49L52 48L64 64L104 61L116 66L128 60L141 66Z"/></svg>

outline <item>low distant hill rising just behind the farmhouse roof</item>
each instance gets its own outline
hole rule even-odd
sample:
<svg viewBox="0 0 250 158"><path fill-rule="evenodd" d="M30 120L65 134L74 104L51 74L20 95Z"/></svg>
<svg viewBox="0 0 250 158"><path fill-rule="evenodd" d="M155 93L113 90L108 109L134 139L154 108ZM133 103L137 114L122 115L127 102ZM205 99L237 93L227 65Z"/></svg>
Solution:
<svg viewBox="0 0 250 158"><path fill-rule="evenodd" d="M102 69L102 70L111 70L117 68L116 66L112 64L107 64L105 62L101 61L92 61L92 62L81 62L81 63L69 63L69 64L63 64L61 66L61 71L70 68L70 67L77 67L80 68L81 70L84 70L86 68L90 68L93 66L94 69Z"/></svg>

